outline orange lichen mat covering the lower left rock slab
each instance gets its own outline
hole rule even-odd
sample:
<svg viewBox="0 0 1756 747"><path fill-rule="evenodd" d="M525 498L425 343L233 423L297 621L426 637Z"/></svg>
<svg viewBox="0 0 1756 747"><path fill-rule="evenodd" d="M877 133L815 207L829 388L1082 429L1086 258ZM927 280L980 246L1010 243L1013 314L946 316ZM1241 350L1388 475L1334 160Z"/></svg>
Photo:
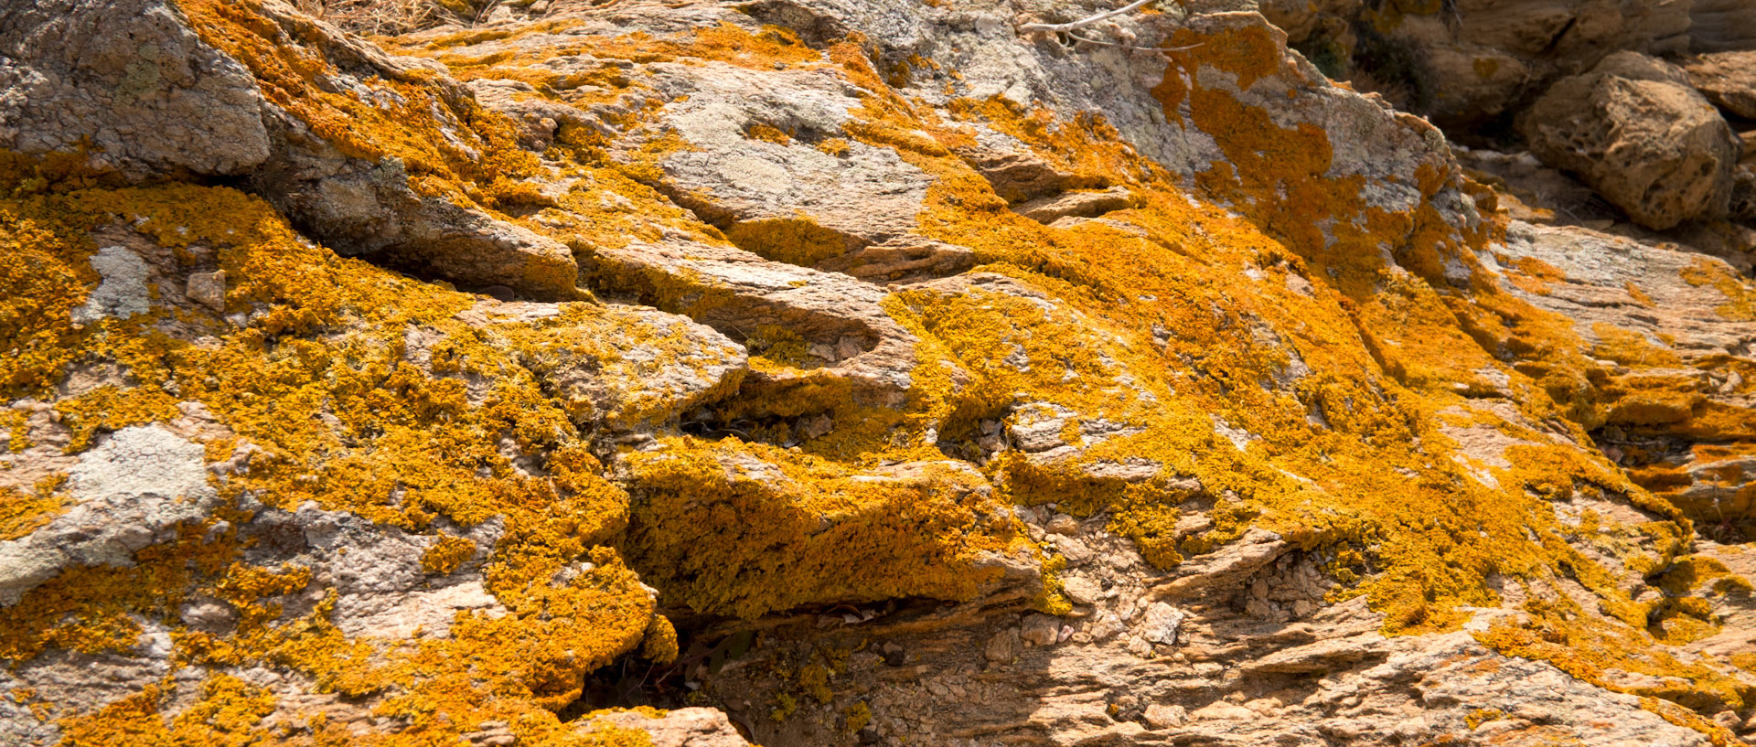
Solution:
<svg viewBox="0 0 1756 747"><path fill-rule="evenodd" d="M140 551L132 568L68 568L0 610L0 659L26 661L47 647L132 649L140 617L176 626L184 600L211 594L232 607L237 630L172 628L179 661L267 663L302 672L320 689L400 693L381 700L381 708L411 724L400 736L409 743L427 738L421 735L455 735L462 722L532 715L534 708L537 719L520 721L520 729L541 743L543 735L565 733L544 708L571 701L585 672L634 651L646 637L651 598L615 551L594 549L622 528L627 496L601 477L602 465L578 444L567 405L544 395L518 363L523 351L565 330L558 324L602 324L601 309L564 307L555 328L471 324L457 314L472 298L337 258L300 240L260 200L221 188L33 195L0 203L0 212L16 216L0 240L39 258L39 277L81 277L74 268L91 251L88 233L121 223L162 245L214 251L234 279L230 300L255 309L244 328L183 316L184 324L218 340L191 345L149 326L153 316L169 312L72 328L68 310L90 286L70 284L65 302L54 295L40 300L58 314L16 317L9 344L61 340L67 351L44 356L35 377L12 379L9 395L40 393L72 359L109 361L153 388L148 396L95 389L63 400L63 421L81 440L170 419L176 409L169 405L198 402L262 449L246 473L232 477L228 494L249 489L284 509L313 500L416 531L435 516L460 524L497 516L506 530L483 575L509 610L464 615L448 638L414 638L411 649L374 659L372 644L349 640L334 626L334 601L283 619L281 600L309 586L309 568L239 565L235 526L248 516L223 510L205 524L179 528L174 542ZM12 296L33 281L7 282ZM406 337L413 326L434 328L444 340L425 365L413 361ZM465 395L460 372L488 382L483 398ZM160 398L172 389L176 398ZM130 414L135 407L146 410ZM550 472L516 473L502 442L544 454ZM212 449L223 454L230 447ZM14 519L40 523L40 512ZM469 544L453 538L441 547L457 542ZM571 582L551 580L581 558L595 570L574 573ZM443 565L450 558L434 570ZM142 694L130 703L139 710L156 700ZM104 724L128 719L123 710L88 714L93 721L81 728L105 733Z"/></svg>

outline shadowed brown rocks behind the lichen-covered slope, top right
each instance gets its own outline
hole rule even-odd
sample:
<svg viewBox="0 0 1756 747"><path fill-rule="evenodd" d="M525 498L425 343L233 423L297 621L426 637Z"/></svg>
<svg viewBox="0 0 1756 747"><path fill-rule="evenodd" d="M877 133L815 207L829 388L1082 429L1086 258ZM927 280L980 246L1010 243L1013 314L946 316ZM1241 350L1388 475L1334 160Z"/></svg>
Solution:
<svg viewBox="0 0 1756 747"><path fill-rule="evenodd" d="M1724 217L1738 221L1733 231L1756 221L1756 172L1733 167L1728 175L1719 146L1726 125L1716 123L1717 114L1686 91L1698 89L1735 128L1756 116L1756 100L1749 96L1756 9L1745 2L1266 0L1261 5L1326 75L1431 117L1472 149L1514 158L1529 151L1551 168L1580 174L1600 200L1626 212L1594 207L1589 196L1582 202L1552 195L1551 203L1561 209L1556 219L1563 223L1631 219L1644 230L1670 230L1682 221L1686 226L1673 238L1730 245L1731 253L1716 251L1730 256L1751 247L1740 238L1705 237L1724 235L1726 228L1717 224ZM1670 63L1689 75L1679 77ZM1626 81L1607 84L1616 77ZM1703 161L1714 165L1700 170ZM1515 163L1501 167L1524 172ZM1507 168L1486 170L1508 179L1505 186L1524 198L1531 191L1556 191L1547 177L1519 186L1522 179ZM1730 214L1717 209L1719 195L1728 189ZM1512 205L1515 212L1528 207L1524 198ZM1654 205L1665 202L1675 205Z"/></svg>

